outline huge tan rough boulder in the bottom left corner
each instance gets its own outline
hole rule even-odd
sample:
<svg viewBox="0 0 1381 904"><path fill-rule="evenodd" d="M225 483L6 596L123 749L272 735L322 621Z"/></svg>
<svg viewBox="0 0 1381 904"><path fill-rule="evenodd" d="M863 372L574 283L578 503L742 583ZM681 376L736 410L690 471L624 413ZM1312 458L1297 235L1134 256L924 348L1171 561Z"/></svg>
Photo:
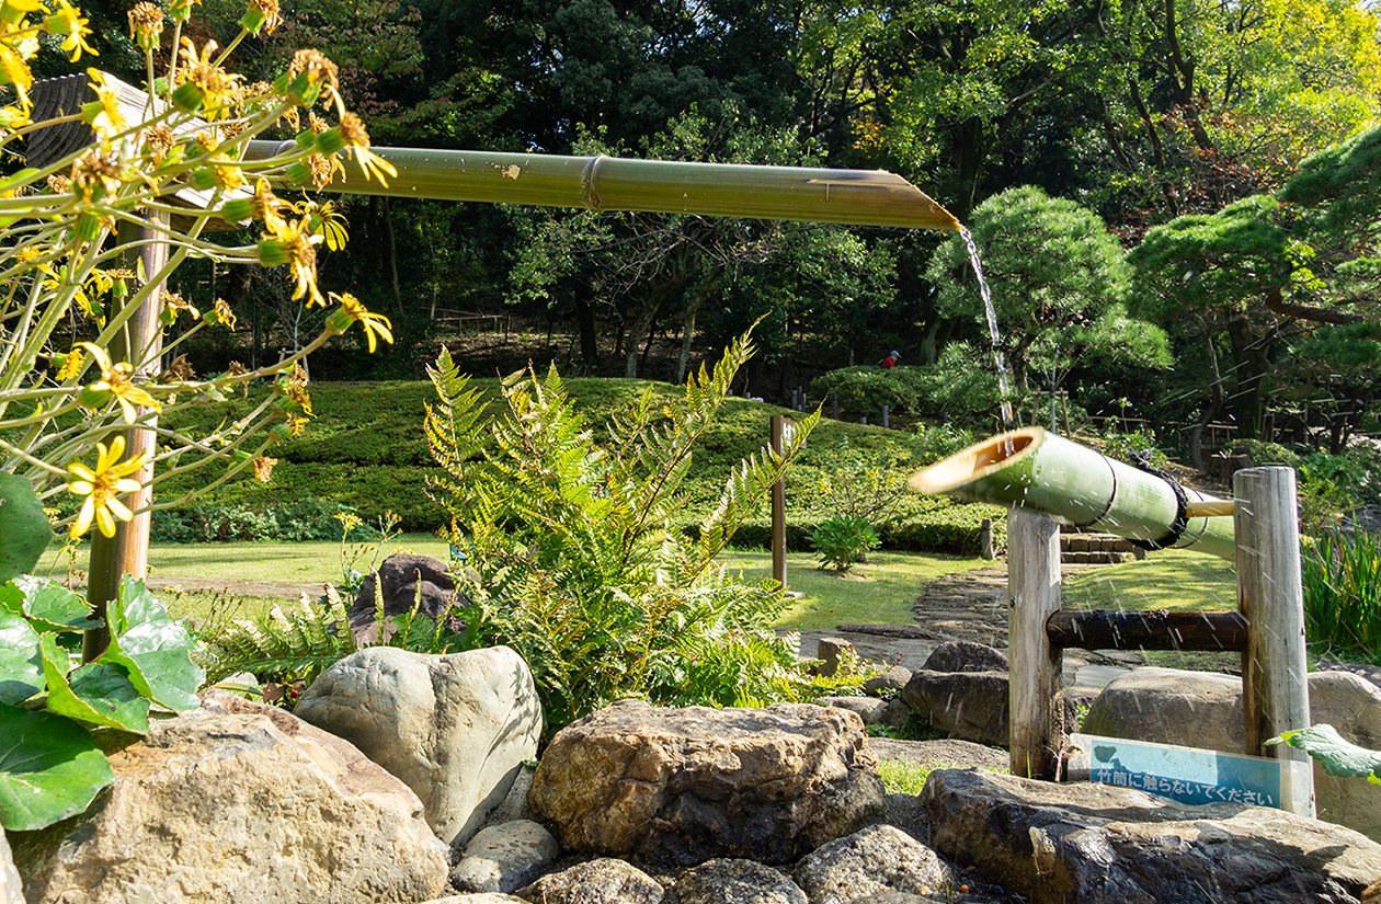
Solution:
<svg viewBox="0 0 1381 904"><path fill-rule="evenodd" d="M84 816L15 841L29 904L410 904L445 887L417 795L282 709L209 694L120 737Z"/></svg>

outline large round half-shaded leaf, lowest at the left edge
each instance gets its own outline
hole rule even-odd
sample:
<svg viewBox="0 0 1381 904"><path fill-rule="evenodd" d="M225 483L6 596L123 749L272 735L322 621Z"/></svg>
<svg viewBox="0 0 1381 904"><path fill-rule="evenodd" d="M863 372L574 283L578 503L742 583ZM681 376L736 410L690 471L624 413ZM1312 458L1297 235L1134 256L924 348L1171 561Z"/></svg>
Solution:
<svg viewBox="0 0 1381 904"><path fill-rule="evenodd" d="M7 831L76 816L112 781L110 762L80 725L0 704L0 825Z"/></svg>

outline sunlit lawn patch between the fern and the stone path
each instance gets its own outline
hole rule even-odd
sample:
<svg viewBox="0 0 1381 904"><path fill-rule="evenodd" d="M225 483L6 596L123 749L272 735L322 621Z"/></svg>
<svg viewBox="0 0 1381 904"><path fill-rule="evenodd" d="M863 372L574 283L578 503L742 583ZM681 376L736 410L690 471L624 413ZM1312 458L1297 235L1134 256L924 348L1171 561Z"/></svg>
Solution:
<svg viewBox="0 0 1381 904"><path fill-rule="evenodd" d="M747 578L772 576L771 552L729 551L720 556L743 569ZM911 603L925 584L954 571L992 564L979 558L916 552L870 552L866 564L842 576L819 567L815 555L791 552L786 558L787 587L800 593L779 622L793 631L829 631L841 624L911 624Z"/></svg>

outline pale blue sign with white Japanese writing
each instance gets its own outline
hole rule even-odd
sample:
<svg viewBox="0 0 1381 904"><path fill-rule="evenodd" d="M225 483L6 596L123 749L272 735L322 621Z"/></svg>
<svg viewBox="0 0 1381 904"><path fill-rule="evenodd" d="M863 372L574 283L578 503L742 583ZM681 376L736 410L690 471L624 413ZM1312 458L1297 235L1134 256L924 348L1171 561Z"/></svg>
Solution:
<svg viewBox="0 0 1381 904"><path fill-rule="evenodd" d="M1068 776L1181 803L1280 806L1280 760L1097 734L1069 737Z"/></svg>

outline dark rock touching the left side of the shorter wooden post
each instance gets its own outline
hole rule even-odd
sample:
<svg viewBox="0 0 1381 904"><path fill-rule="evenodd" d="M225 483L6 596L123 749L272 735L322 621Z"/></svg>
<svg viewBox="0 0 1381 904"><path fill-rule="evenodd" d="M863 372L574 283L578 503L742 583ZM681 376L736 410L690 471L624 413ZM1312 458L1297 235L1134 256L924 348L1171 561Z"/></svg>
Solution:
<svg viewBox="0 0 1381 904"><path fill-rule="evenodd" d="M920 669L911 674L902 698L950 737L1005 747L1011 733L1008 693L1007 672Z"/></svg>

